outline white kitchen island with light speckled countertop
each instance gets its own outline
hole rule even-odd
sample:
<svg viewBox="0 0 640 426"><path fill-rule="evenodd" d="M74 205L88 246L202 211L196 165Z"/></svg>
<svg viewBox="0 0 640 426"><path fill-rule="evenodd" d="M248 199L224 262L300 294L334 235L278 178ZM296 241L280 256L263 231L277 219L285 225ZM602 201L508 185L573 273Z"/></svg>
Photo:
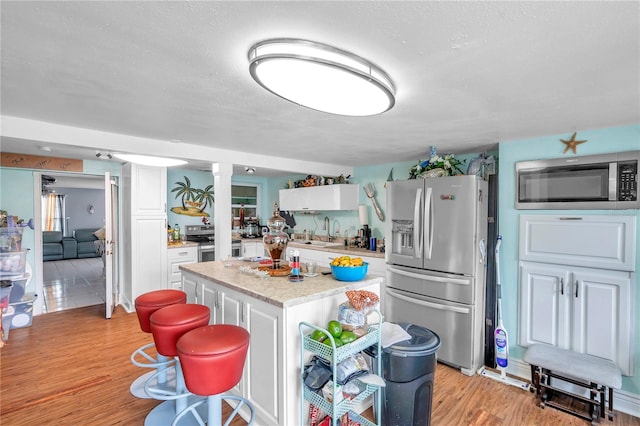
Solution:
<svg viewBox="0 0 640 426"><path fill-rule="evenodd" d="M249 331L244 374L231 392L251 401L256 424L304 424L298 324L325 327L346 302L345 291L362 289L379 295L383 278L367 275L362 281L341 282L318 274L290 282L287 277L263 279L243 273L240 267L245 266L257 264L215 261L180 266L182 288L189 303L211 309L211 324L234 324Z"/></svg>

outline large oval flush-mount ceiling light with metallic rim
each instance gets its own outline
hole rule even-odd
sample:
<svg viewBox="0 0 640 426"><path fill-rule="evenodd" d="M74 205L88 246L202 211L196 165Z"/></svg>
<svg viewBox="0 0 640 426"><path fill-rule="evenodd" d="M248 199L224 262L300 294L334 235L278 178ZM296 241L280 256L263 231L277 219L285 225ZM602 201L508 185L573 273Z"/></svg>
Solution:
<svg viewBox="0 0 640 426"><path fill-rule="evenodd" d="M268 91L331 114L367 116L395 104L391 78L360 56L301 39L271 39L249 49L249 72Z"/></svg>

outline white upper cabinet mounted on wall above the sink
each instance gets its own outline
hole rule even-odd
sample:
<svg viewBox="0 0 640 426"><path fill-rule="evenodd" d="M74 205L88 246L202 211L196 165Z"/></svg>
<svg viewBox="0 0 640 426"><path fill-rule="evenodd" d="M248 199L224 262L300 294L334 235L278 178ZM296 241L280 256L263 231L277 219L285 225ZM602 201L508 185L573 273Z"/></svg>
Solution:
<svg viewBox="0 0 640 426"><path fill-rule="evenodd" d="M356 210L360 185L339 184L280 190L280 210Z"/></svg>

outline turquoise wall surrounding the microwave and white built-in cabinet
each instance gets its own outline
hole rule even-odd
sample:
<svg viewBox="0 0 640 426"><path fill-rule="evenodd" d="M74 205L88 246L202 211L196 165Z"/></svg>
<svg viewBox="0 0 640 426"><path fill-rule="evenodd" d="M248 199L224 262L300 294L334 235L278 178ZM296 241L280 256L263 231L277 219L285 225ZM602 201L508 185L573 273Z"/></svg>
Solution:
<svg viewBox="0 0 640 426"><path fill-rule="evenodd" d="M516 345L518 330L518 232L520 214L580 214L580 215L634 215L640 217L638 210L516 210L515 209L515 162L525 160L570 157L571 151L563 154L565 145L560 139L569 139L571 133L543 136L501 143L499 148L500 170L499 179L499 229L503 236L500 250L500 272L503 296L503 319L507 330L514 338L510 339L510 354L514 359L522 359L524 348ZM578 140L586 139L587 143L578 146L579 155L603 154L618 151L632 151L640 149L640 125L614 127L580 132ZM640 242L640 224L636 220L636 244ZM636 282L640 260L636 260ZM640 312L640 291L632 289L633 311L636 318ZM634 394L640 394L640 327L635 320L635 353L634 377L623 376L623 389Z"/></svg>

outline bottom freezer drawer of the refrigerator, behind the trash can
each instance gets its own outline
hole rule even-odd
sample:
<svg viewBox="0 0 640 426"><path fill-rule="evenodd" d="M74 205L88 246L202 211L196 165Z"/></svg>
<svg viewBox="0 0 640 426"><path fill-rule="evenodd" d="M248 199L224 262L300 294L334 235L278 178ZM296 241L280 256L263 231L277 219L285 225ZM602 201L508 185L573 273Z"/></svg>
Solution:
<svg viewBox="0 0 640 426"><path fill-rule="evenodd" d="M438 361L475 374L482 365L482 336L476 307L419 296L387 287L385 316L391 322L417 324L434 331L442 346Z"/></svg>

